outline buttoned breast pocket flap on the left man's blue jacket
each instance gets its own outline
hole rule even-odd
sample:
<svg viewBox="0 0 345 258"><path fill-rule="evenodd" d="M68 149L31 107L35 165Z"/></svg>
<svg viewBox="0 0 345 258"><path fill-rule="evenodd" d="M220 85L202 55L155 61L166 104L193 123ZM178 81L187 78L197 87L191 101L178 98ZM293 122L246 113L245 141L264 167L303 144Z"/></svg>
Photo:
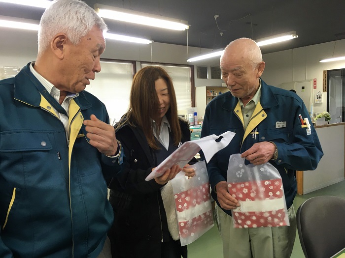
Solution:
<svg viewBox="0 0 345 258"><path fill-rule="evenodd" d="M0 152L51 150L52 144L45 133L15 132L0 135Z"/></svg>

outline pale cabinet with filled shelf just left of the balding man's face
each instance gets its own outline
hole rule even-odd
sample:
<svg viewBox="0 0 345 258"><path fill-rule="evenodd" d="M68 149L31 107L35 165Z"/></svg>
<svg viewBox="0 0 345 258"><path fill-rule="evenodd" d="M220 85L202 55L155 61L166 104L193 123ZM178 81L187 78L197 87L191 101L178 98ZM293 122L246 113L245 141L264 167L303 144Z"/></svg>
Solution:
<svg viewBox="0 0 345 258"><path fill-rule="evenodd" d="M216 96L219 95L219 92L225 93L229 91L227 87L214 87L214 86L200 86L195 87L195 98L196 106L198 109L198 119L204 118L205 109L207 104ZM212 93L211 93L212 92ZM212 94L212 95L210 95Z"/></svg>

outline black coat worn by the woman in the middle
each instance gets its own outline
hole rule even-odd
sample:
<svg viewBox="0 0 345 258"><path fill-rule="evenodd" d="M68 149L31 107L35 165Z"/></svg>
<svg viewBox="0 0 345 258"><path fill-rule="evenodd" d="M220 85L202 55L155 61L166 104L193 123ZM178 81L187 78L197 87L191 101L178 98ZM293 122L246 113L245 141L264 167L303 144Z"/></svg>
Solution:
<svg viewBox="0 0 345 258"><path fill-rule="evenodd" d="M181 142L190 141L188 123L179 122ZM162 239L170 236L160 192L162 185L154 179L145 181L159 164L138 127L125 124L116 131L116 138L123 146L125 158L123 169L109 184L109 201L115 217L109 232L113 257L161 258Z"/></svg>

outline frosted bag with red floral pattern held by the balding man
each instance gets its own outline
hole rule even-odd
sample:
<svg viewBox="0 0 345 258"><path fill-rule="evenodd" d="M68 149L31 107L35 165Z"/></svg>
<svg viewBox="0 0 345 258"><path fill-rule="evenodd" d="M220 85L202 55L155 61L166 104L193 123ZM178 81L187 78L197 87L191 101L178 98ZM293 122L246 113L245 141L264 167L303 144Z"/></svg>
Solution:
<svg viewBox="0 0 345 258"><path fill-rule="evenodd" d="M270 163L245 165L241 154L229 159L229 193L240 207L232 210L235 228L290 226L281 176Z"/></svg>

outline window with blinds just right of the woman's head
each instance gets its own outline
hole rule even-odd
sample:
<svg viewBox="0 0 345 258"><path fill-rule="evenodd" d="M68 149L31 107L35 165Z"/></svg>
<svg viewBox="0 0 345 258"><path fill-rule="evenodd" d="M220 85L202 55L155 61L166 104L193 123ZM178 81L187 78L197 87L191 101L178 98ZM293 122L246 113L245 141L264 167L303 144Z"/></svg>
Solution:
<svg viewBox="0 0 345 258"><path fill-rule="evenodd" d="M141 63L141 68L151 65L150 63ZM194 98L194 91L192 91L192 72L191 66L184 65L169 65L169 64L153 64L163 67L173 80L173 87L175 89L177 109L186 110L194 106L192 103L192 96ZM193 87L194 88L194 87Z"/></svg>

